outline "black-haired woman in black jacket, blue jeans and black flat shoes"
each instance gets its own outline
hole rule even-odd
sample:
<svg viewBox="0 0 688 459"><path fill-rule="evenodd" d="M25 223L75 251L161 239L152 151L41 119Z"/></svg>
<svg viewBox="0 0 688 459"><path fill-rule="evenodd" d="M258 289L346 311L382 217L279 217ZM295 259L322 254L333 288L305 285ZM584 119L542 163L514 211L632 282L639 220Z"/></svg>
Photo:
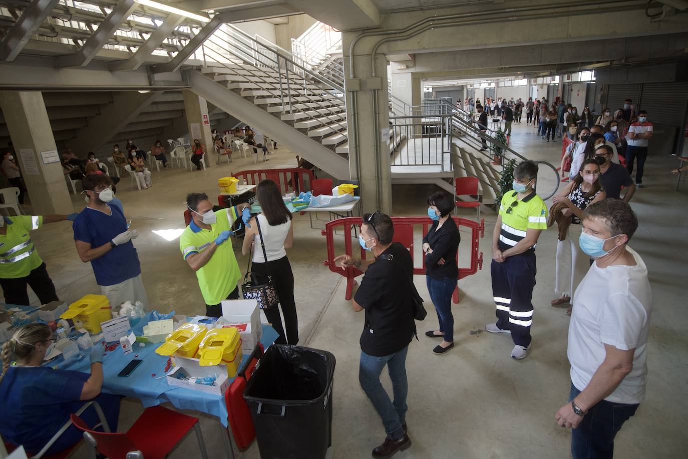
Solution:
<svg viewBox="0 0 688 459"><path fill-rule="evenodd" d="M454 347L451 297L459 278L456 254L461 242L459 228L451 217L454 205L454 197L444 191L433 193L428 198L428 217L433 220L433 224L423 237L425 281L430 299L435 305L440 328L425 332L425 336L442 338L442 342L433 349L435 354L444 354Z"/></svg>

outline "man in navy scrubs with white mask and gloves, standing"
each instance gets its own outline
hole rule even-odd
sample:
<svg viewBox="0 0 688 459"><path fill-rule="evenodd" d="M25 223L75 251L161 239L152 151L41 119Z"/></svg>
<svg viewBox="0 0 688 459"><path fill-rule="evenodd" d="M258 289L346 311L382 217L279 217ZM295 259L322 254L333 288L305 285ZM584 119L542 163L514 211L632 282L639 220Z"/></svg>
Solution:
<svg viewBox="0 0 688 459"><path fill-rule="evenodd" d="M141 301L147 309L141 264L131 242L138 232L129 229L125 215L111 205L112 181L107 175L87 175L81 183L89 202L72 224L79 258L84 263L90 261L100 294L111 306Z"/></svg>

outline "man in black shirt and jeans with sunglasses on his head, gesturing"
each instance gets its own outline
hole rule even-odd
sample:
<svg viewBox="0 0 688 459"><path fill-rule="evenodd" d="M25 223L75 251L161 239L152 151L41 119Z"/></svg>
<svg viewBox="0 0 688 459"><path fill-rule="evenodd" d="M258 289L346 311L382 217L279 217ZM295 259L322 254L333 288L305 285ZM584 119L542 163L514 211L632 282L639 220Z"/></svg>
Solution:
<svg viewBox="0 0 688 459"><path fill-rule="evenodd" d="M411 446L406 434L406 354L416 323L413 321L413 260L398 242L392 243L394 226L389 215L363 215L358 243L372 252L374 259L340 255L334 259L344 269L358 268L365 273L352 308L365 310L361 334L361 363L358 381L383 420L387 437L373 449L374 458L389 458ZM394 401L380 383L387 365Z"/></svg>

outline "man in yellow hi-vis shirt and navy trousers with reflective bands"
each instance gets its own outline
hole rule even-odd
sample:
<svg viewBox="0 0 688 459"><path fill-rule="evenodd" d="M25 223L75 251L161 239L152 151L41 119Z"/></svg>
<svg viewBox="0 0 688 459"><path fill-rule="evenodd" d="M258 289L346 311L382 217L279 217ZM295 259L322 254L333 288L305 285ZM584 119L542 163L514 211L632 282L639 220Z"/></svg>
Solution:
<svg viewBox="0 0 688 459"><path fill-rule="evenodd" d="M535 287L535 246L547 229L547 206L535 193L537 164L524 161L514 169L513 191L504 193L492 237L492 293L497 322L490 333L513 339L513 359L525 359L530 348Z"/></svg>

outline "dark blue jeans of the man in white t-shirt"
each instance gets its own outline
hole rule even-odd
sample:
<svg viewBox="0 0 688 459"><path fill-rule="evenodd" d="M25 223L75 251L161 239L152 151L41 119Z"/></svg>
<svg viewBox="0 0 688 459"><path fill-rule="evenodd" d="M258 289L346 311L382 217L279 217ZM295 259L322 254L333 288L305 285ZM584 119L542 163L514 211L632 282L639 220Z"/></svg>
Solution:
<svg viewBox="0 0 688 459"><path fill-rule="evenodd" d="M571 384L570 400L580 394ZM633 416L638 404L599 401L588 410L577 428L571 429L571 455L573 459L612 459L614 436L625 421Z"/></svg>

